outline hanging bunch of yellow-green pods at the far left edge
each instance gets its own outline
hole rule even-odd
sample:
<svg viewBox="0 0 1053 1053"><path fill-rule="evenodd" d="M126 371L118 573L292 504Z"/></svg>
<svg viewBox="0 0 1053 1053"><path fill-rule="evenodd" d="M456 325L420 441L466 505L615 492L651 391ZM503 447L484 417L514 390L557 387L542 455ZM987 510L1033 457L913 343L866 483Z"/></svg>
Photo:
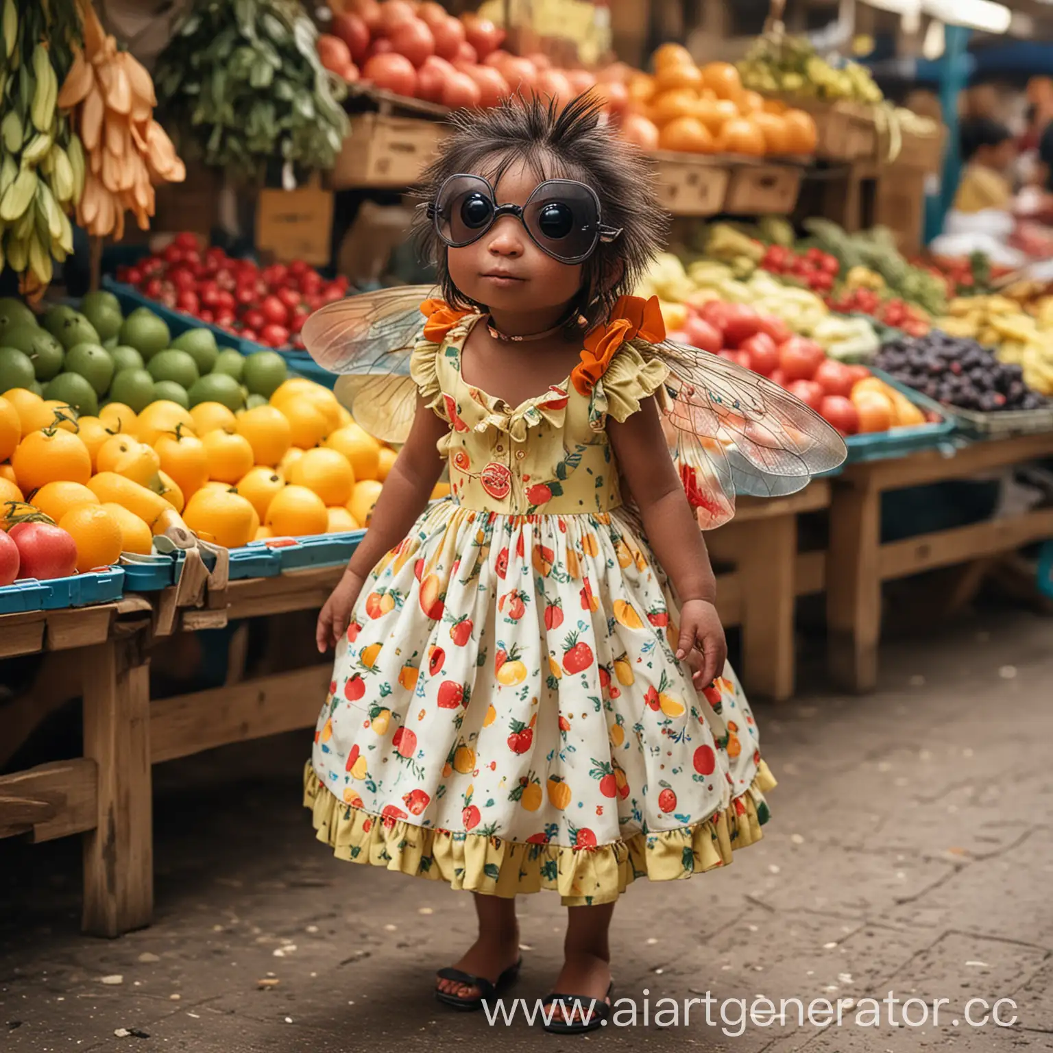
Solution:
<svg viewBox="0 0 1053 1053"><path fill-rule="evenodd" d="M84 184L80 140L57 106L72 5L49 15L3 0L0 28L0 270L21 275L23 295L39 299L53 277L53 259L73 252L67 213ZM21 14L20 14L21 12ZM41 18L52 17L51 24ZM74 23L75 24L75 23ZM44 31L55 38L44 43Z"/></svg>

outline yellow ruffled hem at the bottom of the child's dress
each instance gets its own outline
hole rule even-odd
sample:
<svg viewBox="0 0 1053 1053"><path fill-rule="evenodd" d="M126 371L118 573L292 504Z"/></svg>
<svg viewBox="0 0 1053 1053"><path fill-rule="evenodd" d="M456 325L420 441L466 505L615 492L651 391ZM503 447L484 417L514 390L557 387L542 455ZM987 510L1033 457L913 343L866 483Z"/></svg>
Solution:
<svg viewBox="0 0 1053 1053"><path fill-rule="evenodd" d="M775 786L761 760L749 789L701 822L577 848L522 843L385 818L335 797L310 760L303 775L303 803L312 810L318 840L329 845L338 859L503 898L551 889L560 894L564 907L587 907L613 902L638 877L670 881L728 866L735 849L760 840L769 817L764 793Z"/></svg>

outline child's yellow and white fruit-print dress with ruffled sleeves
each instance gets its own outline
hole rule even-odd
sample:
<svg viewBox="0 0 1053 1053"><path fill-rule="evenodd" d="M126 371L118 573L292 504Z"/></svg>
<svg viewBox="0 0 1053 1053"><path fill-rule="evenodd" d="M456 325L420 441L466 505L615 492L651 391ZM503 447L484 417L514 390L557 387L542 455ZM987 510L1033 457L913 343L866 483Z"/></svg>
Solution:
<svg viewBox="0 0 1053 1053"><path fill-rule="evenodd" d="M477 320L437 309L413 352L452 495L373 571L337 649L304 776L318 838L567 906L729 863L775 781L731 668L699 694L675 658L678 609L605 430L667 367L612 319L605 352L513 408L461 373Z"/></svg>

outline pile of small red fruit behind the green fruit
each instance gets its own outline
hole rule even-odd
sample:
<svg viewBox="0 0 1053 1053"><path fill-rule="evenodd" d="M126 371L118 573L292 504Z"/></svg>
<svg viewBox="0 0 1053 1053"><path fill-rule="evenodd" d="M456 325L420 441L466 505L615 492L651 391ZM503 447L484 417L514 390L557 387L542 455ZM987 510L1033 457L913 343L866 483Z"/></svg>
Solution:
<svg viewBox="0 0 1053 1053"><path fill-rule="evenodd" d="M302 347L307 316L347 292L344 276L326 281L302 260L260 267L222 249L202 253L185 233L134 266L118 267L117 278L166 307L269 347Z"/></svg>

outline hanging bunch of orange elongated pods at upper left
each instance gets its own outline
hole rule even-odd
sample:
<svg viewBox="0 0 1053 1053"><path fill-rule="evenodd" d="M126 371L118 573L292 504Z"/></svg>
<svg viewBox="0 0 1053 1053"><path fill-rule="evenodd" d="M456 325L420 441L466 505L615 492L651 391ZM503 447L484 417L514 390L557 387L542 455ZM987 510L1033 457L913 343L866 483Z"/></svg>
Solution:
<svg viewBox="0 0 1053 1053"><path fill-rule="evenodd" d="M182 182L186 168L154 120L157 96L150 74L127 52L117 49L88 0L83 0L82 9L84 48L74 49L58 104L73 111L87 157L77 220L88 234L113 234L119 241L124 213L133 213L140 229L148 230L154 186Z"/></svg>

